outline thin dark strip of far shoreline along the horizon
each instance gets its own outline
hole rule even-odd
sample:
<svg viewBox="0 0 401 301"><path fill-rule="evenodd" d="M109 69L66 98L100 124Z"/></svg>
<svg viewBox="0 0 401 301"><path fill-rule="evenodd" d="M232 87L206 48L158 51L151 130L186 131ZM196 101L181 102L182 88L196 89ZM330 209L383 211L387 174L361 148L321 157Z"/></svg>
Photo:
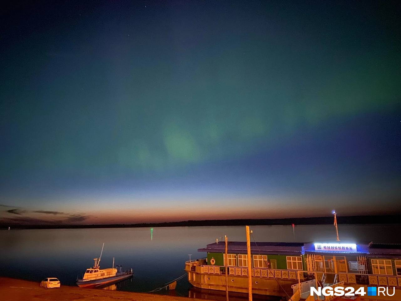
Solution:
<svg viewBox="0 0 401 301"><path fill-rule="evenodd" d="M337 216L338 224L400 224L401 215L391 216ZM182 222L102 224L102 225L11 225L0 224L0 229L81 229L81 228L146 228L146 227L196 227L196 226L275 226L275 225L327 225L333 217L280 218L280 219L235 219L235 220L188 220Z"/></svg>

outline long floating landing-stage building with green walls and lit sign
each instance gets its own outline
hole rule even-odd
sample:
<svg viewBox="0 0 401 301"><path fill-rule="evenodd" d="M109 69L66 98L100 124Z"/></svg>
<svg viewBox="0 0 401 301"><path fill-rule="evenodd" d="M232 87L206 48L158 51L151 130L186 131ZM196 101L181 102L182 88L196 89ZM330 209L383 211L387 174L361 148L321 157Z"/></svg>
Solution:
<svg viewBox="0 0 401 301"><path fill-rule="evenodd" d="M225 258L225 242L198 249L207 256L186 262L188 281L201 289L225 290L227 260L229 291L247 293L247 244L228 242L227 251ZM401 293L401 244L253 242L251 257L255 294L291 296L300 292L299 300L306 299L302 294L309 294L310 287L340 284L355 289L395 287ZM293 301L297 299L293 297Z"/></svg>

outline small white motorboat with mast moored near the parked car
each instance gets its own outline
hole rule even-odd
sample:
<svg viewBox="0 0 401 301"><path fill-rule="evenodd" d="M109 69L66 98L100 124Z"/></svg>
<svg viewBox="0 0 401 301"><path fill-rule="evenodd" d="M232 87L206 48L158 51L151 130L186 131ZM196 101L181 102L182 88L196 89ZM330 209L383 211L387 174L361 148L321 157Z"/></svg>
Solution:
<svg viewBox="0 0 401 301"><path fill-rule="evenodd" d="M104 246L104 244L103 244ZM112 268L103 268L101 269L99 266L101 254L99 258L93 258L95 263L92 268L88 268L83 274L82 278L77 278L77 285L79 287L93 288L100 287L107 284L117 283L124 279L131 278L133 275L132 268L128 270L122 271L122 266L116 266L114 268L114 258L113 258L113 267Z"/></svg>

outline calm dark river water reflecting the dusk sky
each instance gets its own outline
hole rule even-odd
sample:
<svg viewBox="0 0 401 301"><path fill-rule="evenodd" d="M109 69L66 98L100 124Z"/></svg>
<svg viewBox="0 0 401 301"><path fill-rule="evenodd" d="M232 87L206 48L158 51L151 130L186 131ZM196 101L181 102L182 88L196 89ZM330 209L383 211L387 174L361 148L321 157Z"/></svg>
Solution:
<svg viewBox="0 0 401 301"><path fill-rule="evenodd" d="M332 225L251 226L256 241L308 242L335 241ZM399 243L401 224L338 225L340 240ZM75 285L77 275L93 265L105 243L100 267L115 265L133 268L134 278L111 287L124 291L148 292L184 274L185 261L205 257L197 249L227 235L231 241L245 241L245 227L105 228L0 231L0 275L41 281L57 277L62 285ZM251 236L251 240L253 240ZM175 295L193 297L184 279ZM159 293L169 294L167 291ZM200 293L195 293L200 297ZM214 298L216 299L216 298Z"/></svg>

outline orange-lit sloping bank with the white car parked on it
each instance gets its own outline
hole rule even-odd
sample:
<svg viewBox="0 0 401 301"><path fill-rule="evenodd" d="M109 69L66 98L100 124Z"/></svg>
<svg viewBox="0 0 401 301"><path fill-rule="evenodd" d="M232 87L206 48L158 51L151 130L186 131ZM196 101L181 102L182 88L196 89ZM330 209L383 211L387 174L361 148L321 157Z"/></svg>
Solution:
<svg viewBox="0 0 401 301"><path fill-rule="evenodd" d="M103 289L82 289L63 286L44 289L39 283L0 277L0 300L4 301L190 301L186 297L174 297Z"/></svg>

